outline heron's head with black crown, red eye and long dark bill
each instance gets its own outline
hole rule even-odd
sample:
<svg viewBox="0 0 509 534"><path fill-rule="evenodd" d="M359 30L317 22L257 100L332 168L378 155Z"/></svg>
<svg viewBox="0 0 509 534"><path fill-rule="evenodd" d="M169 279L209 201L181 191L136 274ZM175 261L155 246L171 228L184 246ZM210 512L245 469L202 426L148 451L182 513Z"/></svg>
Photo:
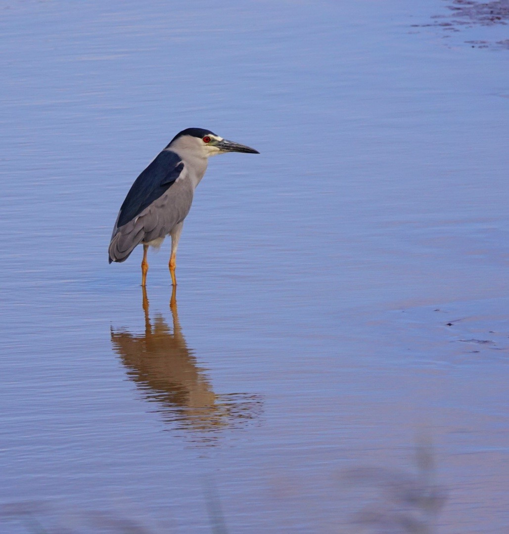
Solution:
<svg viewBox="0 0 509 534"><path fill-rule="evenodd" d="M177 133L166 147L175 150L181 156L185 153L198 158L209 158L216 154L225 152L246 152L249 154L260 154L254 148L250 148L233 141L228 141L216 135L210 130L203 128L187 128Z"/></svg>

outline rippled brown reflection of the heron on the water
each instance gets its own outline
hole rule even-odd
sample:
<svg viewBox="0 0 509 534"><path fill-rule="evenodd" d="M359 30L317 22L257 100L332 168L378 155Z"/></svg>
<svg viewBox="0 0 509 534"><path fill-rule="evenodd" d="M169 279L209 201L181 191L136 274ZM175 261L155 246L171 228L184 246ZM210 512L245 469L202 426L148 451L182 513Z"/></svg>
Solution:
<svg viewBox="0 0 509 534"><path fill-rule="evenodd" d="M214 431L256 419L261 409L259 396L216 395L212 390L182 335L175 286L170 301L173 331L162 315L151 323L145 287L142 290L145 334L112 328L111 340L129 378L143 390L145 399L158 403L165 421L177 428Z"/></svg>

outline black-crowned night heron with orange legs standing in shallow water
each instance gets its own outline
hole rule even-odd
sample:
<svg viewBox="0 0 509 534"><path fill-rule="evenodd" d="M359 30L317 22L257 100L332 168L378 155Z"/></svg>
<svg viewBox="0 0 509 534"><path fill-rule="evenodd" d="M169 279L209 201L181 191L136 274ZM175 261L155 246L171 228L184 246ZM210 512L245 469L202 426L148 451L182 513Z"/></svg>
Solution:
<svg viewBox="0 0 509 534"><path fill-rule="evenodd" d="M120 207L109 244L109 263L126 261L143 244L142 286L145 286L148 246L160 247L171 235L169 268L175 278L178 240L191 209L196 186L207 170L210 156L225 152L259 154L254 148L227 141L210 130L187 128L171 140L136 178Z"/></svg>

